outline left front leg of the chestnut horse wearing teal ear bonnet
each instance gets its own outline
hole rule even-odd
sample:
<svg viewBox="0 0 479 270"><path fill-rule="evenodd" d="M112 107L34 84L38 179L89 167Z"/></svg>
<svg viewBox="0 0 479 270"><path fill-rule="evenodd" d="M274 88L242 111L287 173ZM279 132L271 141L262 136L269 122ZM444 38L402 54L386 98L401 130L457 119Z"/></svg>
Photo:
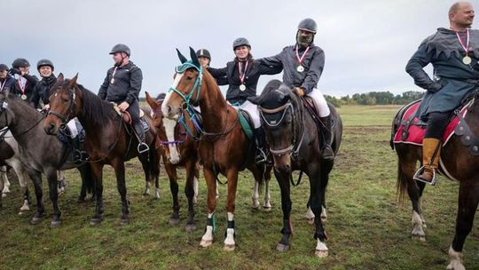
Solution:
<svg viewBox="0 0 479 270"><path fill-rule="evenodd" d="M216 175L210 167L203 167L203 174L207 182L208 223L206 232L201 237L200 246L206 248L213 243L213 234L216 233Z"/></svg>

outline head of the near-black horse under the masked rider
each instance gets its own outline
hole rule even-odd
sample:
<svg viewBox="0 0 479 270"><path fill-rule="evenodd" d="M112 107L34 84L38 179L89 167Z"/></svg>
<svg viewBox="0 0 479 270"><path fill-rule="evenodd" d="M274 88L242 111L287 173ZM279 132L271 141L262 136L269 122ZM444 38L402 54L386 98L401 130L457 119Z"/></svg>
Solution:
<svg viewBox="0 0 479 270"><path fill-rule="evenodd" d="M293 91L279 80L272 80L265 86L261 96L248 100L258 105L275 169L290 173L290 154L294 151L296 139L294 122L300 121L294 112L297 99Z"/></svg>

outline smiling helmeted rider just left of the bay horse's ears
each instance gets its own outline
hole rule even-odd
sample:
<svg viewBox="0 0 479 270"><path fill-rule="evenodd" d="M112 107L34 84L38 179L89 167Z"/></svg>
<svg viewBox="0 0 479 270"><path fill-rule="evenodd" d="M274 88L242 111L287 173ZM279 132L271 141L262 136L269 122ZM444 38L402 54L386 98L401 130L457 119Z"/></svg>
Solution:
<svg viewBox="0 0 479 270"><path fill-rule="evenodd" d="M35 84L30 102L33 107L40 108L40 100L42 100L43 109L49 109L50 105L48 103L50 102L51 87L57 83L57 77L53 75L55 67L53 67L51 60L43 59L36 63L36 69L38 73L40 73L40 76L42 76L42 80Z"/></svg>

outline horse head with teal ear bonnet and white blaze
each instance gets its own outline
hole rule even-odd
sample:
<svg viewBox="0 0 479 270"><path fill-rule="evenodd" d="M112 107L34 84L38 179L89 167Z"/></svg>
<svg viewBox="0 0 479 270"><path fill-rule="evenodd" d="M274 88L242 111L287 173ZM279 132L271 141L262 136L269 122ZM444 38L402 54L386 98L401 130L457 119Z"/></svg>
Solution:
<svg viewBox="0 0 479 270"><path fill-rule="evenodd" d="M198 105L203 70L196 57L196 53L190 47L192 60L186 60L185 56L178 51L181 65L175 69L173 84L161 105L161 111L165 117L177 118L177 115L190 105Z"/></svg>

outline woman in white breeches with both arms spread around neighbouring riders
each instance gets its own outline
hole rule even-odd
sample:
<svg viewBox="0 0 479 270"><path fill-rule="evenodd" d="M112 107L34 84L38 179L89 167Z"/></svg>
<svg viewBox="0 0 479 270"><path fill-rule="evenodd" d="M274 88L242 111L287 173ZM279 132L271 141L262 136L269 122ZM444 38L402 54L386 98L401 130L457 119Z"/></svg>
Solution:
<svg viewBox="0 0 479 270"><path fill-rule="evenodd" d="M254 124L254 133L256 139L256 163L266 161L266 139L263 128L261 127L260 116L257 107L249 102L247 98L256 95L256 84L260 75L274 75L281 72L279 68L271 68L259 65L251 55L251 45L244 37L234 40L232 49L235 58L226 63L226 67L212 68L208 67L209 73L215 77L220 85L229 84L226 91L226 100L232 105L239 105L241 109L251 115ZM224 83L222 83L226 79Z"/></svg>

